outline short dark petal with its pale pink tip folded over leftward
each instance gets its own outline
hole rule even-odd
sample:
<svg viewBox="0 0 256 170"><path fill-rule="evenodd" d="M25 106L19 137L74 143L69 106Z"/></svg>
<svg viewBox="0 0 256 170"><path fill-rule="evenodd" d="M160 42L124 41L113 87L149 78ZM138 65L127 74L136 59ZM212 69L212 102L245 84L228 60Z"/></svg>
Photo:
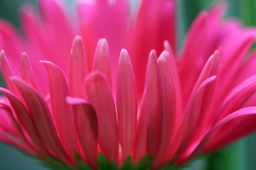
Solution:
<svg viewBox="0 0 256 170"><path fill-rule="evenodd" d="M80 98L67 98L72 105L78 139L90 166L97 166L98 123L95 109L90 103Z"/></svg>

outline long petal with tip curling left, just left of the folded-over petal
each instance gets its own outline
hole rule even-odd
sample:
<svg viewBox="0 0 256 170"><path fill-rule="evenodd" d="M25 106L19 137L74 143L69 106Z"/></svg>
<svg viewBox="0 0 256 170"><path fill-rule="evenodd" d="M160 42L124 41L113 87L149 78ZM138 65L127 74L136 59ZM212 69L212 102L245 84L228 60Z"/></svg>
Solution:
<svg viewBox="0 0 256 170"><path fill-rule="evenodd" d="M70 96L68 80L58 66L51 62L41 62L48 73L53 121L63 146L65 146L69 156L73 158L74 151L78 152L78 141L75 134L72 108L65 99Z"/></svg>

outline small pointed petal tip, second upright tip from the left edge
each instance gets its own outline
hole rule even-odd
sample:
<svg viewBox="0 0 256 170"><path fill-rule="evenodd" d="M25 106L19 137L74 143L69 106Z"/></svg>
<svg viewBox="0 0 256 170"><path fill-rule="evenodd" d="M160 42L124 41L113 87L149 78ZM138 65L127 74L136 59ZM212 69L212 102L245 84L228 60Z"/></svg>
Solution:
<svg viewBox="0 0 256 170"><path fill-rule="evenodd" d="M31 84L34 89L38 91L38 84L36 83L31 64L26 53L21 53L21 77L28 84Z"/></svg>

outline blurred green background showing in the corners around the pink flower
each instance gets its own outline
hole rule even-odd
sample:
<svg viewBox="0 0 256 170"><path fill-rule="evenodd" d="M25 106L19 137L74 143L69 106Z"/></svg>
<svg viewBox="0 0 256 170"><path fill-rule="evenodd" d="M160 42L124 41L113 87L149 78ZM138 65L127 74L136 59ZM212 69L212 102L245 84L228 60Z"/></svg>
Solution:
<svg viewBox="0 0 256 170"><path fill-rule="evenodd" d="M136 4L137 0L132 0ZM218 0L177 0L178 2L178 45L179 48L193 19L202 10L209 8ZM19 8L22 3L37 5L36 0L0 0L0 18L9 20L19 29ZM245 26L256 26L256 0L227 0L227 17L240 18ZM134 6L134 5L133 5ZM1 81L2 85L3 82ZM2 85L3 86L3 85ZM186 170L255 170L256 169L256 133L210 154L207 157L191 162ZM43 170L38 161L27 157L17 149L0 143L0 169L37 169Z"/></svg>

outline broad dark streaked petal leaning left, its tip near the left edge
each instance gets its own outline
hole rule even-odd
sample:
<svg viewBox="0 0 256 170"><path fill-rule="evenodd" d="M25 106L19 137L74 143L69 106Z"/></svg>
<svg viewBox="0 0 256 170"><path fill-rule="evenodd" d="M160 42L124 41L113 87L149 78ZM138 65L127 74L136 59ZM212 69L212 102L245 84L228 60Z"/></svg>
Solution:
<svg viewBox="0 0 256 170"><path fill-rule="evenodd" d="M59 155L61 159L66 162L67 154L60 143L52 115L44 99L37 91L31 88L31 86L26 84L24 81L18 78L12 78L11 81L14 82L18 90L21 92L28 109L27 111L31 115L33 123L43 141L46 142L46 145L55 152L56 155Z"/></svg>

